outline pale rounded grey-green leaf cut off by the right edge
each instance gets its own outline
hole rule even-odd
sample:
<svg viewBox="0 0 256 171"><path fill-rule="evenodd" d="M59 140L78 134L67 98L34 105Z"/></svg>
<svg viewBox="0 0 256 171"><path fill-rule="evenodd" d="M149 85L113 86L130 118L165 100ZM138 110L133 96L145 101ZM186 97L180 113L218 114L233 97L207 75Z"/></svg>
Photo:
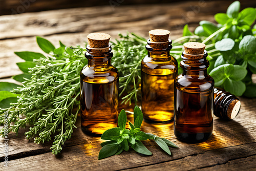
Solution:
<svg viewBox="0 0 256 171"><path fill-rule="evenodd" d="M252 53L256 52L256 38L252 35L244 36L240 41L239 49L242 53Z"/></svg>

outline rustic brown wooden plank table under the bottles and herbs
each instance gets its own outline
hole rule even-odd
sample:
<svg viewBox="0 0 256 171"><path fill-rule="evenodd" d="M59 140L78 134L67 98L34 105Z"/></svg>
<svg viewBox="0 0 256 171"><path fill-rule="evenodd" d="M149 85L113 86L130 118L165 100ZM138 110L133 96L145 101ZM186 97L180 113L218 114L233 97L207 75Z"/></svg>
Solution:
<svg viewBox="0 0 256 171"><path fill-rule="evenodd" d="M0 78L15 82L10 77L20 74L15 65L23 61L14 51L39 52L35 36L44 36L57 45L58 40L74 46L83 45L91 32L105 32L117 38L126 31L148 37L151 29L171 31L170 38L182 34L188 23L190 30L200 20L214 21L214 14L225 12L232 1L182 2L164 5L137 5L77 8L36 13L0 16ZM242 9L256 7L255 1L242 1ZM255 80L254 76L254 80ZM256 105L255 99L241 97L242 108L237 118L223 121L215 117L213 135L205 142L187 144L176 139L173 124L151 125L143 123L142 131L156 134L176 143L168 156L153 141L144 144L153 153L143 156L135 151L98 160L102 140L84 135L78 119L72 138L62 152L51 154L52 141L35 144L25 139L26 130L19 135L9 134L8 170L255 170L256 168ZM131 117L131 116L130 116ZM28 129L27 129L28 130ZM4 167L4 144L0 142L0 170Z"/></svg>

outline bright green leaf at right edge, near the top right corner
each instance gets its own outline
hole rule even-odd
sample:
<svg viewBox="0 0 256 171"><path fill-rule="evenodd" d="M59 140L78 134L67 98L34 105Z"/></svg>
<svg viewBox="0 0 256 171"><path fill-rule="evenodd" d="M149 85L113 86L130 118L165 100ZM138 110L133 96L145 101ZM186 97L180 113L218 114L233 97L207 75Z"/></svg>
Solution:
<svg viewBox="0 0 256 171"><path fill-rule="evenodd" d="M245 8L240 12L239 20L245 22L248 26L252 25L256 19L256 10L254 8Z"/></svg>

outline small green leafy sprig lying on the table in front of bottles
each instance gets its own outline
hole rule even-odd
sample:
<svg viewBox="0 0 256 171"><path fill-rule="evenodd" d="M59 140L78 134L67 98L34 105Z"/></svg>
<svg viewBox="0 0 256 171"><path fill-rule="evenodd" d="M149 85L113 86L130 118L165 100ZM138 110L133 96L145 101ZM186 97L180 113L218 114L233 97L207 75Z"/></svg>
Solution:
<svg viewBox="0 0 256 171"><path fill-rule="evenodd" d="M152 153L143 145L141 141L154 140L167 154L171 155L168 146L178 148L173 142L158 137L150 133L140 131L140 126L143 121L143 114L138 106L134 108L134 124L129 122L131 130L125 129L127 116L122 110L118 116L118 126L106 130L102 136L102 140L109 140L102 142L102 146L98 159L103 159L113 155L119 155L124 151L129 151L130 146L138 153L144 155L152 155Z"/></svg>

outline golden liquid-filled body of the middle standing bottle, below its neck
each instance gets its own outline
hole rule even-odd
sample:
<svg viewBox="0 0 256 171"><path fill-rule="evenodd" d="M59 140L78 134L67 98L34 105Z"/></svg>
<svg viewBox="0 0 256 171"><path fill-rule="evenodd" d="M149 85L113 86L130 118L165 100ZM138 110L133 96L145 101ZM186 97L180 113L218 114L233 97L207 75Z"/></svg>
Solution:
<svg viewBox="0 0 256 171"><path fill-rule="evenodd" d="M174 117L176 60L145 62L146 60L142 61L141 66L141 108L144 120L156 124L168 123ZM150 68L152 64L154 69Z"/></svg>

